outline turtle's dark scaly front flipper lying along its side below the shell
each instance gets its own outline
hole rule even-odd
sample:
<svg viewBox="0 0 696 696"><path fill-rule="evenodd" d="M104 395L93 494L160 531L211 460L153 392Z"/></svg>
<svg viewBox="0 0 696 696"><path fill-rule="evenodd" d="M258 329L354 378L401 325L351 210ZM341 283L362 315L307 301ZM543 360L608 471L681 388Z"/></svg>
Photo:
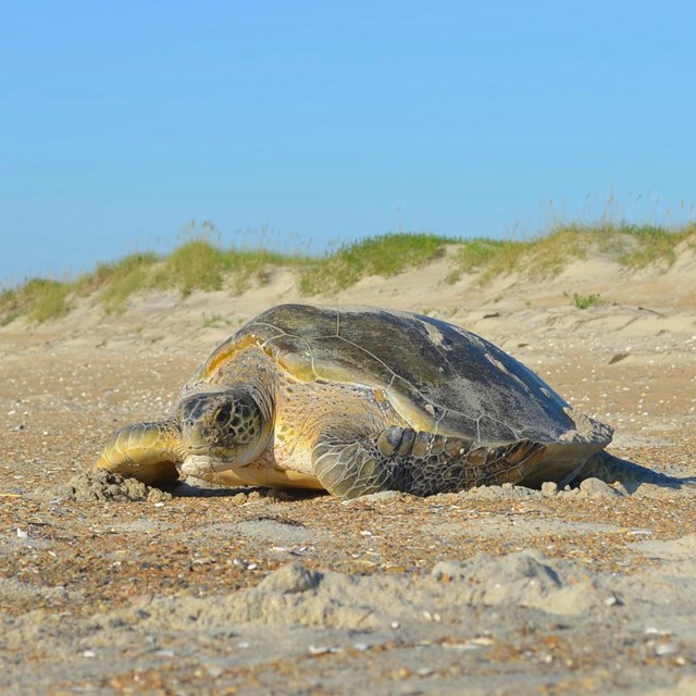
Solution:
<svg viewBox="0 0 696 696"><path fill-rule="evenodd" d="M312 461L322 485L340 498L380 490L427 496L518 483L545 449L530 439L484 447L473 439L395 426L376 437L322 435Z"/></svg>

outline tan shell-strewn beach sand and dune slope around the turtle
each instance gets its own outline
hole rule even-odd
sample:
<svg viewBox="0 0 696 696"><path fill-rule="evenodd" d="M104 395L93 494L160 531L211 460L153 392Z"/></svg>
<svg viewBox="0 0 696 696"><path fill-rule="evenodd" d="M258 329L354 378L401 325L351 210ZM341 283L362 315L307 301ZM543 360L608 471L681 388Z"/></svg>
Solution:
<svg viewBox="0 0 696 696"><path fill-rule="evenodd" d="M633 274L593 258L544 282L445 275L309 299L475 331L610 423L613 453L696 476L693 251ZM0 692L696 693L695 487L341 502L85 473L220 340L297 299L278 271L243 296L144 296L117 316L86 298L0 328Z"/></svg>

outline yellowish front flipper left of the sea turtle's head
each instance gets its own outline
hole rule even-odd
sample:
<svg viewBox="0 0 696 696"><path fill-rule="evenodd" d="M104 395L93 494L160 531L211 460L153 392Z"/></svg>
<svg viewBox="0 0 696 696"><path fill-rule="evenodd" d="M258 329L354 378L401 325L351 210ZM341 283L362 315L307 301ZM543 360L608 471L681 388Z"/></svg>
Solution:
<svg viewBox="0 0 696 696"><path fill-rule="evenodd" d="M146 484L176 481L176 464L185 459L175 421L134 423L107 442L95 469L108 469Z"/></svg>

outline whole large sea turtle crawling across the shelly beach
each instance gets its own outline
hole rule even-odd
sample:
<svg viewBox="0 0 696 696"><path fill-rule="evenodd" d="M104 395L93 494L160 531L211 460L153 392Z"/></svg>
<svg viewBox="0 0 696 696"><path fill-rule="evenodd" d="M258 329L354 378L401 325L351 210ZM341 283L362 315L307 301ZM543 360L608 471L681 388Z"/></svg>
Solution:
<svg viewBox="0 0 696 696"><path fill-rule="evenodd" d="M171 418L114 433L96 467L145 483L183 474L341 498L660 476L604 452L611 435L452 324L283 304L201 364Z"/></svg>

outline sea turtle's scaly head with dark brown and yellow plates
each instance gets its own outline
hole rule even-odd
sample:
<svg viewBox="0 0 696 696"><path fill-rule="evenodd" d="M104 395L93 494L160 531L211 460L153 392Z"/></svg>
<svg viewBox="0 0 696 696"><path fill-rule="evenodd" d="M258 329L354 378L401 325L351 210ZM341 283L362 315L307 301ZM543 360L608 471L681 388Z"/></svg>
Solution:
<svg viewBox="0 0 696 696"><path fill-rule="evenodd" d="M271 434L270 410L264 406L245 384L184 398L177 420L187 457L206 458L213 470L252 461L266 448Z"/></svg>

